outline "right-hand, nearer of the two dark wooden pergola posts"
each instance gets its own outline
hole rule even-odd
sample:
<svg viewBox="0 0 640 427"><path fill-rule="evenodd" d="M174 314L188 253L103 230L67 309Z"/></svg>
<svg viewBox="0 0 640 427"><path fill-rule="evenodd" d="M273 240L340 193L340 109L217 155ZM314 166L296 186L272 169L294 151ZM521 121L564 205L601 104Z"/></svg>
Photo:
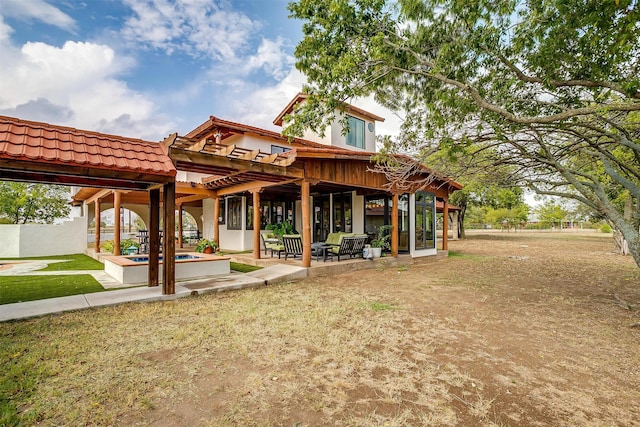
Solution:
<svg viewBox="0 0 640 427"><path fill-rule="evenodd" d="M176 183L164 185L162 295L176 293Z"/></svg>

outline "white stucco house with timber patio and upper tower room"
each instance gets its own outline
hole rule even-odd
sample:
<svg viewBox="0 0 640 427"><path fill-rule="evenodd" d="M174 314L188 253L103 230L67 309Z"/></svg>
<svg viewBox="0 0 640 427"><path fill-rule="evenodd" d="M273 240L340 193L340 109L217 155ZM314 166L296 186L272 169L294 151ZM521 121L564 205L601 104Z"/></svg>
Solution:
<svg viewBox="0 0 640 427"><path fill-rule="evenodd" d="M305 98L296 95L274 123L284 125ZM340 114L346 114L350 124L346 135L340 116L324 137L308 133L293 140L211 116L183 136L168 136L163 145L177 169L175 203L180 215L191 214L202 235L218 240L221 248L252 250L255 258L261 256L260 230L282 221L291 222L303 235L308 250L311 242L323 241L331 232L374 236L388 224L394 230L391 255L435 255L436 201L447 213L446 223L449 194L460 184L406 156L398 158L411 164L411 175L402 185L391 182L374 171L371 160L376 123L384 119L351 105ZM120 203L148 223L144 196L122 194ZM99 211L113 205L112 195L96 189L83 188L74 199L98 202ZM303 264L309 259L310 252Z"/></svg>

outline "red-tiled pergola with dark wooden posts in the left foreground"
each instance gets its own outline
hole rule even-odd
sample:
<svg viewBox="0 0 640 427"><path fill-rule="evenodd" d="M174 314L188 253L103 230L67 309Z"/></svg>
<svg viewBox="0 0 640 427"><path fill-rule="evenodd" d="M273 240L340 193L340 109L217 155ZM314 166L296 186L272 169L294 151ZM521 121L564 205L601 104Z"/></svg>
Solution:
<svg viewBox="0 0 640 427"><path fill-rule="evenodd" d="M101 188L93 202L99 205L100 195L113 194L116 211L123 193L148 193L149 286L159 285L161 191L163 232L174 233L175 176L167 149L157 142L0 116L0 180ZM119 233L115 236L119 253ZM174 239L164 239L163 253L162 293L174 294Z"/></svg>

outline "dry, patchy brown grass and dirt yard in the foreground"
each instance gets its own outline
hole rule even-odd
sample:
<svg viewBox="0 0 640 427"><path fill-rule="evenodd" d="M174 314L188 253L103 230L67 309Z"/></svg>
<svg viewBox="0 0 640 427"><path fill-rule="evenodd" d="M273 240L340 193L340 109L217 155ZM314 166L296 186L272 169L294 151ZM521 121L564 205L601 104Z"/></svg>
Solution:
<svg viewBox="0 0 640 427"><path fill-rule="evenodd" d="M640 426L640 310L623 303L640 303L640 269L610 236L478 233L450 250L0 324L0 344L53 359L19 411L43 425Z"/></svg>

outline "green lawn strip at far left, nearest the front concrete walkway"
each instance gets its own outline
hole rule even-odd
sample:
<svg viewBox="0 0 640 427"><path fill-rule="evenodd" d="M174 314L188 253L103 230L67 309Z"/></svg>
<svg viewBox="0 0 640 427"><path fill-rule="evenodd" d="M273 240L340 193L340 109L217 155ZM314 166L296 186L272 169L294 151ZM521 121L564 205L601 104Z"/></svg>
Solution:
<svg viewBox="0 0 640 427"><path fill-rule="evenodd" d="M0 304L66 297L104 290L102 285L90 274L0 276Z"/></svg>

